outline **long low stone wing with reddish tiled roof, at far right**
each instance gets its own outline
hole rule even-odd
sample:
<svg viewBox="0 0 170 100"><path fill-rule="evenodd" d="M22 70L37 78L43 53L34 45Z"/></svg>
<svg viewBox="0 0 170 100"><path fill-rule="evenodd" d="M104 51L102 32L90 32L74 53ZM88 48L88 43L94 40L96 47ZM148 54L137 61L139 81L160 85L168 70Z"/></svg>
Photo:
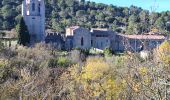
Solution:
<svg viewBox="0 0 170 100"><path fill-rule="evenodd" d="M133 51L152 50L166 40L165 35L161 34L143 34L143 35L125 35L117 34L114 51Z"/></svg>

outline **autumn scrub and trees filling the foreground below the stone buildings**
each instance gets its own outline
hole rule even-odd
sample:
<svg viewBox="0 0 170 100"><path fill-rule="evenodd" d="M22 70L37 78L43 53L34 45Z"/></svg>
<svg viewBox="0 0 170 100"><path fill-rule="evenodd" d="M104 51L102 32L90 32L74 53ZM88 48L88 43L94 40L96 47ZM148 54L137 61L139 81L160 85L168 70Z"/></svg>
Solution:
<svg viewBox="0 0 170 100"><path fill-rule="evenodd" d="M169 100L169 48L165 41L148 59L0 48L0 100Z"/></svg>

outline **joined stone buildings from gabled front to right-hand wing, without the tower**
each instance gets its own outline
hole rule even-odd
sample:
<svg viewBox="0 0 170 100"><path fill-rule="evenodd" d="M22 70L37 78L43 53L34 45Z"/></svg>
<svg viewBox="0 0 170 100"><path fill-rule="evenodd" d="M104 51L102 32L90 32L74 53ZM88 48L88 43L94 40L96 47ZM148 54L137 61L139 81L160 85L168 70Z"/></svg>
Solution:
<svg viewBox="0 0 170 100"><path fill-rule="evenodd" d="M85 29L78 26L66 29L65 47L104 50L115 52L152 50L159 46L166 36L161 34L125 35L108 29Z"/></svg>

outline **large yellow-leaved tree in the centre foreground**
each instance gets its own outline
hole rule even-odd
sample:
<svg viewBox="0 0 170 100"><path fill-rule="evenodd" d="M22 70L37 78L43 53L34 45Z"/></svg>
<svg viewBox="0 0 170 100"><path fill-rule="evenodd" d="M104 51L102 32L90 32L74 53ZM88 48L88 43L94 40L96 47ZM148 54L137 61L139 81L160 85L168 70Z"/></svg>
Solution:
<svg viewBox="0 0 170 100"><path fill-rule="evenodd" d="M69 68L68 74L62 75L62 79L66 79L62 92L67 90L70 99L117 100L123 97L121 94L126 84L115 69L102 57L88 58L84 66L75 65Z"/></svg>

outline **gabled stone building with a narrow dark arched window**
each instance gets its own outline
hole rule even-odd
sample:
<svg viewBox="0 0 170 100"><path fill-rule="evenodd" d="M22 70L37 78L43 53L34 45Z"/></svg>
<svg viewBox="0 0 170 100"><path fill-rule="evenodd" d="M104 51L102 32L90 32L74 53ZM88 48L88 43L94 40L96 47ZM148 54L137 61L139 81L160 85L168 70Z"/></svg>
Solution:
<svg viewBox="0 0 170 100"><path fill-rule="evenodd" d="M73 26L66 29L66 49L72 48L90 49L91 34L88 29Z"/></svg>

